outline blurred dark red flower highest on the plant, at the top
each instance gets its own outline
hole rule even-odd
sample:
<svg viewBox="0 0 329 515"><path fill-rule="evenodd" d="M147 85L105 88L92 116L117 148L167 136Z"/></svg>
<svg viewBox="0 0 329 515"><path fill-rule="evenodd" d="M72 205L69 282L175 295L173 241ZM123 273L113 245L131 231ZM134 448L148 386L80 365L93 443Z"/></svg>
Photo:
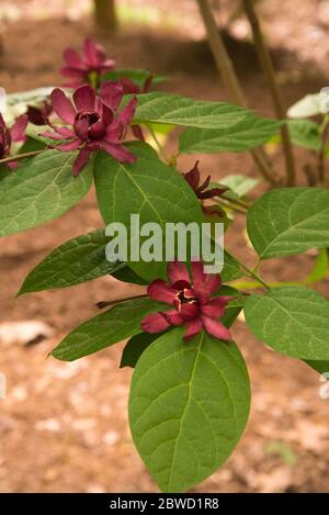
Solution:
<svg viewBox="0 0 329 515"><path fill-rule="evenodd" d="M99 86L100 77L113 69L115 61L106 57L103 46L87 37L83 43L82 55L73 48L66 48L63 53L66 66L60 68L60 74L70 79L65 83L68 88L77 88L86 82L94 87Z"/></svg>

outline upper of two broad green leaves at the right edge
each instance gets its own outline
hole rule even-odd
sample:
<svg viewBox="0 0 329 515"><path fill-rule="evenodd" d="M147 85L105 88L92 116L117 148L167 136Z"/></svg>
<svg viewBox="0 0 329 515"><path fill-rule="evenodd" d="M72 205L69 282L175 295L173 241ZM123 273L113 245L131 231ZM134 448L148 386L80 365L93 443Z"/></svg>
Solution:
<svg viewBox="0 0 329 515"><path fill-rule="evenodd" d="M261 259L329 247L329 190L269 191L249 209L247 229Z"/></svg>

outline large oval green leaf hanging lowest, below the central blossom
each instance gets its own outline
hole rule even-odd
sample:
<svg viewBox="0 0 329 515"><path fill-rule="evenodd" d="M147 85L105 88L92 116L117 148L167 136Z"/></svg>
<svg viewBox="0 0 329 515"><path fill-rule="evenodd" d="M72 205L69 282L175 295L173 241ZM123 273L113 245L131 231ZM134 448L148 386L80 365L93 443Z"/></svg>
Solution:
<svg viewBox="0 0 329 515"><path fill-rule="evenodd" d="M250 387L234 343L173 329L137 361L129 424L138 452L164 492L180 492L224 463L247 423Z"/></svg>

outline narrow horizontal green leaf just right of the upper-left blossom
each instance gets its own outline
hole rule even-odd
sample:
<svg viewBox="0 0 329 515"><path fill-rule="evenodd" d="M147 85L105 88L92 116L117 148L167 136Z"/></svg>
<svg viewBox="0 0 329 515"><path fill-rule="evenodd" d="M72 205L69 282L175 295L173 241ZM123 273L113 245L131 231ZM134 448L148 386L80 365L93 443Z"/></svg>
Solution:
<svg viewBox="0 0 329 515"><path fill-rule="evenodd" d="M129 96L125 96L124 102ZM138 96L134 122L154 122L200 128L227 128L254 116L245 108L227 102L193 100L171 93L144 93Z"/></svg>

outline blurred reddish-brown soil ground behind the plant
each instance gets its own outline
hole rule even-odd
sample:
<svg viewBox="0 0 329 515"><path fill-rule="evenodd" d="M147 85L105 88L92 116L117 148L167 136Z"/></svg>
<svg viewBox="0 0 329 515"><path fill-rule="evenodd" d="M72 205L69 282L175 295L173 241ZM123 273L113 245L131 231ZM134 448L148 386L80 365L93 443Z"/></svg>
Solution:
<svg viewBox="0 0 329 515"><path fill-rule="evenodd" d="M274 2L275 3L275 2ZM42 29L42 30L41 30ZM56 85L60 53L80 46L88 21L79 24L57 19L18 22L5 33L0 82L8 91ZM99 37L120 66L136 66L167 74L166 89L202 99L226 99L203 43L183 36L126 30L110 41ZM246 70L243 87L250 105L271 114L271 102L256 59L243 44L236 44L238 67ZM247 52L247 54L246 54ZM246 57L247 55L247 57ZM248 59L248 60L247 60ZM279 63L280 64L280 63ZM248 70L248 72L247 72ZM303 78L303 77L302 77ZM321 78L285 75L286 105L324 86ZM168 150L174 148L169 142ZM196 156L181 157L186 170ZM228 173L256 176L247 155L197 156L203 172L219 179ZM299 161L304 154L297 153ZM274 155L281 167L281 158ZM0 355L0 371L8 378L8 396L0 401L1 492L150 492L157 491L141 463L127 426L131 371L118 370L123 345L73 363L45 359L60 338L97 314L94 303L139 291L138 287L103 278L68 290L14 294L27 272L52 248L102 225L94 193L59 220L1 242L1 322L44 321L54 336L26 347L12 343ZM254 257L238 216L227 245L252 264ZM311 256L271 261L266 278L303 278ZM320 290L328 292L328 283ZM319 378L306 365L268 349L239 321L235 339L247 360L252 384L249 424L227 463L195 488L197 492L319 492L328 491L328 401L319 398Z"/></svg>

